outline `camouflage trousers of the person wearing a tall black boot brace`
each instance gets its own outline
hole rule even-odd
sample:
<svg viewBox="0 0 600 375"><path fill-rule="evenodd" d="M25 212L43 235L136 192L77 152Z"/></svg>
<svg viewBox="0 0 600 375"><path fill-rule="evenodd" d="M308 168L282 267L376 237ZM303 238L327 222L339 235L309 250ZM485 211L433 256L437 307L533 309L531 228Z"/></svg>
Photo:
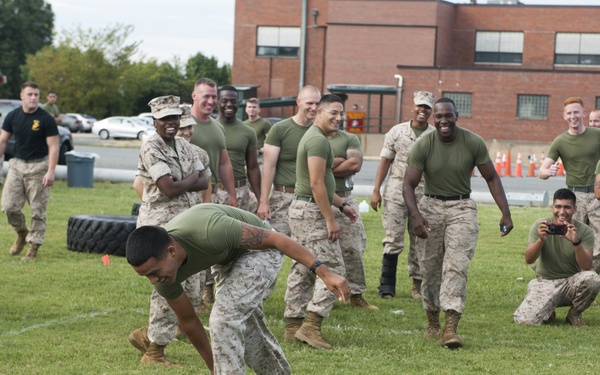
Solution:
<svg viewBox="0 0 600 375"><path fill-rule="evenodd" d="M403 204L383 201L383 213L381 222L385 228L385 237L381 240L384 254L401 254L404 250L404 233L406 232L406 223L410 228L410 218L408 210ZM410 245L408 248L408 277L411 279L421 279L421 270L419 268L419 258L415 249L416 237L410 230L408 238Z"/></svg>

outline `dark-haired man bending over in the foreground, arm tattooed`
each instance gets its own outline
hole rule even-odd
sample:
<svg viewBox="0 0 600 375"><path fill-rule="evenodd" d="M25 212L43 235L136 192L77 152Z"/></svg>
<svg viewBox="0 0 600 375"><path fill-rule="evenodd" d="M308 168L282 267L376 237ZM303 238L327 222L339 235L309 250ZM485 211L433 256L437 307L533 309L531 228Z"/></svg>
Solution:
<svg viewBox="0 0 600 375"><path fill-rule="evenodd" d="M179 324L215 374L289 374L290 365L269 331L262 301L279 271L279 252L303 264L343 302L350 287L306 248L249 212L200 204L176 216L163 228L136 229L127 240L127 261L147 277L166 300ZM181 282L213 266L216 301L210 316L212 340ZM333 294L332 294L333 295ZM214 364L213 364L214 358Z"/></svg>

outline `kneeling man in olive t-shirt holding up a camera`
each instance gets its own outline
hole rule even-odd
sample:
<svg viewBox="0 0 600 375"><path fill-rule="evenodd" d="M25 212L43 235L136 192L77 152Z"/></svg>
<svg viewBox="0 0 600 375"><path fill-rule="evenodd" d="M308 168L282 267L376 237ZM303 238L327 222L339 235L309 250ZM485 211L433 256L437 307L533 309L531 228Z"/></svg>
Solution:
<svg viewBox="0 0 600 375"><path fill-rule="evenodd" d="M556 317L555 308L571 306L567 323L586 327L581 313L600 291L600 276L592 271L594 232L574 220L575 194L568 189L554 193L552 218L537 220L529 231L525 261L535 267L527 295L515 311L515 322L540 325Z"/></svg>

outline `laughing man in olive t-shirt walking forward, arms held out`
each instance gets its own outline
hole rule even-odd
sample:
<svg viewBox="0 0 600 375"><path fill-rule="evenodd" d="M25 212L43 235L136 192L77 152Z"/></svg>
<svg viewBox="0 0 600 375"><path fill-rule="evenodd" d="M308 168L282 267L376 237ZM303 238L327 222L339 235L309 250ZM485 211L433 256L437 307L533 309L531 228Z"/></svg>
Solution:
<svg viewBox="0 0 600 375"><path fill-rule="evenodd" d="M477 167L502 212L500 235L513 228L508 201L485 142L456 126L454 101L438 99L433 106L435 132L424 135L408 155L403 193L417 238L421 292L428 326L424 336L436 338L440 310L446 324L438 343L460 348L458 322L464 312L467 271L479 235L477 204L470 198L471 172ZM425 192L417 205L415 190L425 176Z"/></svg>

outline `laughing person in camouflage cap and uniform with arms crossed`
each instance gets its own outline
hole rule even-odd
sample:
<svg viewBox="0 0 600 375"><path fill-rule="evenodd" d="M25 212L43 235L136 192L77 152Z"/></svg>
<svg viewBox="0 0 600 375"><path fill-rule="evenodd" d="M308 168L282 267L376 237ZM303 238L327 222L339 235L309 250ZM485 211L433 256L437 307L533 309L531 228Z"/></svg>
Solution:
<svg viewBox="0 0 600 375"><path fill-rule="evenodd" d="M143 182L142 205L137 226L163 225L177 214L200 203L199 191L208 187L204 163L186 140L176 137L182 109L179 97L152 99L153 134L140 149L138 176ZM196 308L200 306L203 272L181 283ZM149 327L133 331L129 342L139 349L142 363L171 365L164 348L173 340L177 317L167 301L156 291L150 299Z"/></svg>

